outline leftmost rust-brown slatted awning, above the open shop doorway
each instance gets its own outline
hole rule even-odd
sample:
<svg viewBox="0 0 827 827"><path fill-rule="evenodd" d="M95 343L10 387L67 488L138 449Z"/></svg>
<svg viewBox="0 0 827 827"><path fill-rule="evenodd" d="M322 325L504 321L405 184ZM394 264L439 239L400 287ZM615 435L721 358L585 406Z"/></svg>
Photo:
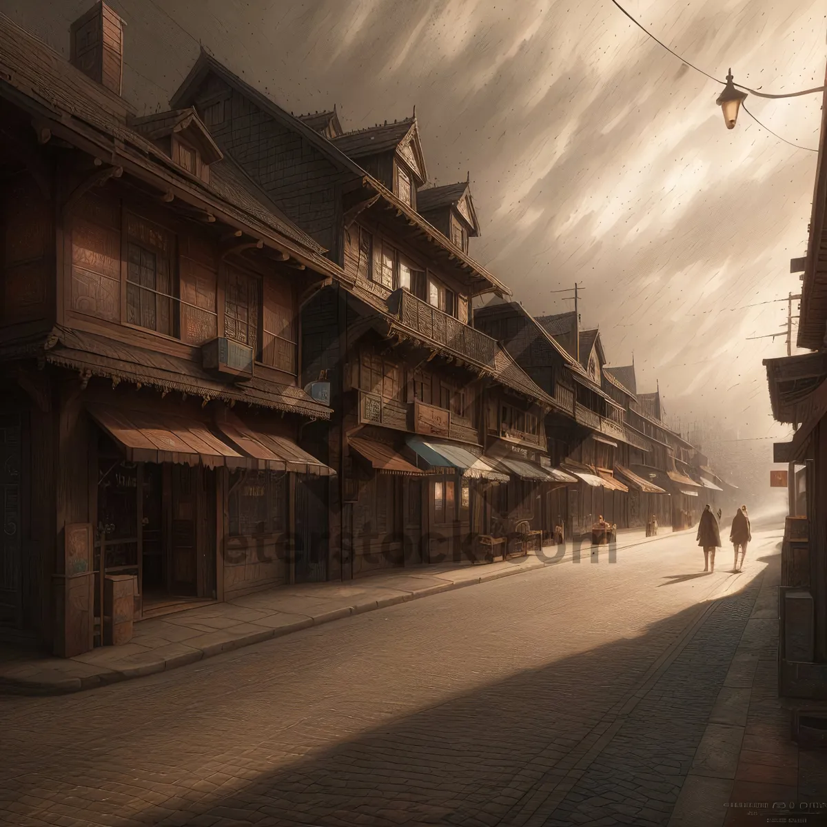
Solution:
<svg viewBox="0 0 827 827"><path fill-rule="evenodd" d="M164 410L126 410L104 404L89 404L87 410L131 462L249 467L247 458L216 437L206 422Z"/></svg>

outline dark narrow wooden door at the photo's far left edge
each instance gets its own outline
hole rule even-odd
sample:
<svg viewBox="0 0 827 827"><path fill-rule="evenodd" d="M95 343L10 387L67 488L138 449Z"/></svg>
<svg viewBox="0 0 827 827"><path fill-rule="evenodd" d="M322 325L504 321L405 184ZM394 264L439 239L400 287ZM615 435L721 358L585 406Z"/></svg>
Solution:
<svg viewBox="0 0 827 827"><path fill-rule="evenodd" d="M0 417L0 626L22 625L21 421Z"/></svg>

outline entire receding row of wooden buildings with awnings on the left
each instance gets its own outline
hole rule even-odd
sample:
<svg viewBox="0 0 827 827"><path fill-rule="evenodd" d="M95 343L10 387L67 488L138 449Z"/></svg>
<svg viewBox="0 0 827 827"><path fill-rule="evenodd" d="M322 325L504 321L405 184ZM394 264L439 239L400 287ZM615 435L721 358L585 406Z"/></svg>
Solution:
<svg viewBox="0 0 827 827"><path fill-rule="evenodd" d="M5 636L70 656L127 590L142 619L696 519L713 477L596 331L481 307L509 288L415 117L294 117L207 52L136 117L122 22L83 20L107 60L0 17Z"/></svg>

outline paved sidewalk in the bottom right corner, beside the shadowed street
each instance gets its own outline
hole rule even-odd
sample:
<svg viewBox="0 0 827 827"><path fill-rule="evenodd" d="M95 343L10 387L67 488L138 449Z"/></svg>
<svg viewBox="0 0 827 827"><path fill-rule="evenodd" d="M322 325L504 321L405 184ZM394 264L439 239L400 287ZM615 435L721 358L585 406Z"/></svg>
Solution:
<svg viewBox="0 0 827 827"><path fill-rule="evenodd" d="M791 737L791 710L827 708L827 702L778 697L780 576L777 555L764 572L669 827L827 825L827 751L800 750ZM801 806L807 802L823 807Z"/></svg>

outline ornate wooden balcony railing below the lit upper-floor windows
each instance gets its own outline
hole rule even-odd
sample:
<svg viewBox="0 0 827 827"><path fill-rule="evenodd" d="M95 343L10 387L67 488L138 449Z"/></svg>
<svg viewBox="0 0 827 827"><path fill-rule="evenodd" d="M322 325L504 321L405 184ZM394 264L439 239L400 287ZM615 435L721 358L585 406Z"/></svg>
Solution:
<svg viewBox="0 0 827 827"><path fill-rule="evenodd" d="M415 336L480 365L494 366L496 342L485 333L443 313L408 290L398 289L388 299L390 312Z"/></svg>

